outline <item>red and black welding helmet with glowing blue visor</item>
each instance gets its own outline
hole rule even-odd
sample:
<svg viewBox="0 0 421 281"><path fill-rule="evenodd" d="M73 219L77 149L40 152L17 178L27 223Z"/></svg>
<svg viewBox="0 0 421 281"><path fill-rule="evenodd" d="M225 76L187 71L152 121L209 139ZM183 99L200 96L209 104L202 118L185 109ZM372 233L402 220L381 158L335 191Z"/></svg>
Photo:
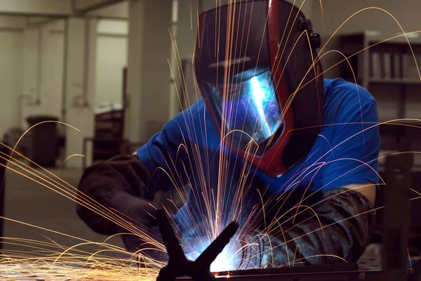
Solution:
<svg viewBox="0 0 421 281"><path fill-rule="evenodd" d="M224 144L269 176L300 162L319 134L319 46L311 22L286 1L241 1L199 16L195 72L206 107Z"/></svg>

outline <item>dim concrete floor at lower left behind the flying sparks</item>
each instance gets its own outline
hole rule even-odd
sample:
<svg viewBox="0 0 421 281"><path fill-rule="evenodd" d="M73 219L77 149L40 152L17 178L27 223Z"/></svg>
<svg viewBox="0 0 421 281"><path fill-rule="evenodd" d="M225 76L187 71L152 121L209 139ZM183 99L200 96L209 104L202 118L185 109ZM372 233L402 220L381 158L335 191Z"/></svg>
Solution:
<svg viewBox="0 0 421 281"><path fill-rule="evenodd" d="M58 170L50 170L57 175ZM67 183L77 187L81 177L80 169L62 169L58 176ZM31 176L34 178L34 176ZM57 180L57 179L56 179ZM103 242L107 237L94 233L76 215L76 203L59 195L53 190L32 181L13 171L6 173L5 189L5 217L16 221L30 223L50 230L80 237L92 242ZM48 241L51 239L63 246L73 246L80 240L58 235L45 230L39 230L20 223L6 221L4 237L20 237L32 240ZM48 239L46 238L48 237ZM4 249L18 249L16 245L7 244ZM119 237L110 240L112 244L123 247ZM19 248L22 249L22 248ZM85 247L83 249L91 249ZM93 247L92 249L98 249ZM27 249L30 250L30 249Z"/></svg>

